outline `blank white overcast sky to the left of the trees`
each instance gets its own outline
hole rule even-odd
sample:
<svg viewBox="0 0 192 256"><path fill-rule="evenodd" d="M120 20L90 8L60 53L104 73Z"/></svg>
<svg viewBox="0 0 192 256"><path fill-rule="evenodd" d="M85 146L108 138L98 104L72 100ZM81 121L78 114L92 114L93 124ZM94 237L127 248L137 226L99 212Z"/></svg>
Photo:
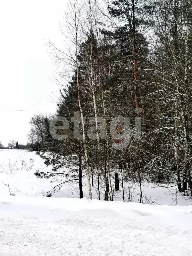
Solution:
<svg viewBox="0 0 192 256"><path fill-rule="evenodd" d="M58 85L45 44L62 42L67 0L0 1L0 141L27 142L30 117L54 113ZM14 111L13 111L14 110ZM18 111L25 110L25 111Z"/></svg>

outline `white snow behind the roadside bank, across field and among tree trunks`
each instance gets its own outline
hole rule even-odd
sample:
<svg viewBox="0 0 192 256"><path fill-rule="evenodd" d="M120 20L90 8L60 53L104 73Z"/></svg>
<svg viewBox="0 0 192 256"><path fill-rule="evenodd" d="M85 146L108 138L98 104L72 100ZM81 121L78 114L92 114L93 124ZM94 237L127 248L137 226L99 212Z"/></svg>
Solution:
<svg viewBox="0 0 192 256"><path fill-rule="evenodd" d="M16 196L42 196L50 191L55 185L61 183L61 177L56 177L53 183L50 179L39 179L34 173L37 171L51 171L51 166L46 167L44 160L41 159L35 152L26 150L1 150L0 149L0 195L10 195L10 192ZM83 180L83 194L88 198L88 189L86 185L86 177ZM10 191L9 191L10 189ZM132 202L138 202L139 185L132 183L124 183L125 201L128 197ZM78 183L65 183L58 193L53 197L71 197L79 198ZM154 187L153 184L143 184L142 186L143 199L146 203L159 205L190 205L189 198L183 197L180 193L176 193L176 187L162 188ZM98 198L96 191L93 188L93 197ZM101 197L104 193L101 191ZM122 191L114 196L115 201L122 201Z"/></svg>

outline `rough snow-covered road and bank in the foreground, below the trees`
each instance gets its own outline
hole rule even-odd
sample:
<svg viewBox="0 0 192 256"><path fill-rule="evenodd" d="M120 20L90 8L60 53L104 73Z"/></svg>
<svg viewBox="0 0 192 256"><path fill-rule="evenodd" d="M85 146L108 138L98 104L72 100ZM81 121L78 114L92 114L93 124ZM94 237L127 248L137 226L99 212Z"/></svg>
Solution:
<svg viewBox="0 0 192 256"><path fill-rule="evenodd" d="M192 206L0 198L1 256L191 256Z"/></svg>

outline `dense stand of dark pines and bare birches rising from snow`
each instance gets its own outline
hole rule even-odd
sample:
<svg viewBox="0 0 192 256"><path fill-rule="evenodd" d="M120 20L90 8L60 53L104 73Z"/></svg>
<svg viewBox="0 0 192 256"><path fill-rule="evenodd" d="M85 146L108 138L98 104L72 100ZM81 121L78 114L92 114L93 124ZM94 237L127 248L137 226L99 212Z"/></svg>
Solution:
<svg viewBox="0 0 192 256"><path fill-rule="evenodd" d="M105 200L113 200L117 193L124 200L127 182L140 185L140 203L146 202L144 183L192 191L191 2L110 1L104 16L108 26L99 21L96 1L87 3L84 9L72 8L84 17L78 20L82 27L73 26L74 34L71 30L76 49L70 53L72 61L54 48L58 62L74 63L71 80L60 91L56 114L69 121L68 130L57 130L68 137L52 138L49 125L55 116L31 120L32 145L47 165L53 165L52 172L36 176L62 179L46 195L65 182L77 182L82 198L83 182L89 183L89 177L98 198ZM80 113L80 140L74 136L75 112ZM130 118L129 145L124 148L123 140L110 133L110 123L117 116ZM90 127L94 139L87 136ZM122 122L115 129L117 137L126 133Z"/></svg>

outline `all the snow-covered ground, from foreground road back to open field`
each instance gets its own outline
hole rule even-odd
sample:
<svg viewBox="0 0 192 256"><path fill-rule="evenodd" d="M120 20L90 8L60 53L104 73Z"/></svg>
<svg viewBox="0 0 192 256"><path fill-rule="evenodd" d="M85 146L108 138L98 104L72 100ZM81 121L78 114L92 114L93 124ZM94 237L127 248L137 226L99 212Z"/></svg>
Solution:
<svg viewBox="0 0 192 256"><path fill-rule="evenodd" d="M175 188L144 186L153 205L77 199L72 185L47 198L55 184L34 172L49 168L35 152L0 150L0 256L192 255L192 206Z"/></svg>

